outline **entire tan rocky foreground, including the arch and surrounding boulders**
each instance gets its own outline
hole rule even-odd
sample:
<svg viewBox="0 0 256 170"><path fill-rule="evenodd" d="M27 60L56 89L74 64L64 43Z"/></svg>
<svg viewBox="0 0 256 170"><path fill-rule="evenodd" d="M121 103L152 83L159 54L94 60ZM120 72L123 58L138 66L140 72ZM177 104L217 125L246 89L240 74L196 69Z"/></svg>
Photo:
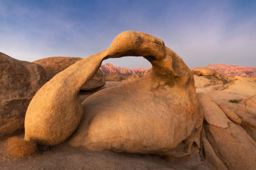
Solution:
<svg viewBox="0 0 256 170"><path fill-rule="evenodd" d="M102 60L121 56L147 56L153 69L103 75ZM190 70L134 31L85 59L0 61L1 169L256 169L251 77Z"/></svg>

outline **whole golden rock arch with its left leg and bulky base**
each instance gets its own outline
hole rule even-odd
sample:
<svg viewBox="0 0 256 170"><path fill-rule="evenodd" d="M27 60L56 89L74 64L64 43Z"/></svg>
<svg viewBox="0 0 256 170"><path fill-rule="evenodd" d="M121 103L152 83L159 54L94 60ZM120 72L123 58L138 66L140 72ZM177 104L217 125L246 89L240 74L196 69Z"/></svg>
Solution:
<svg viewBox="0 0 256 170"><path fill-rule="evenodd" d="M81 106L78 92L102 60L122 56L144 56L152 69L143 78L94 93ZM200 148L201 128L193 74L186 64L159 38L127 31L109 49L76 62L37 92L26 112L25 140L58 145L76 129L69 139L72 146L184 156Z"/></svg>

